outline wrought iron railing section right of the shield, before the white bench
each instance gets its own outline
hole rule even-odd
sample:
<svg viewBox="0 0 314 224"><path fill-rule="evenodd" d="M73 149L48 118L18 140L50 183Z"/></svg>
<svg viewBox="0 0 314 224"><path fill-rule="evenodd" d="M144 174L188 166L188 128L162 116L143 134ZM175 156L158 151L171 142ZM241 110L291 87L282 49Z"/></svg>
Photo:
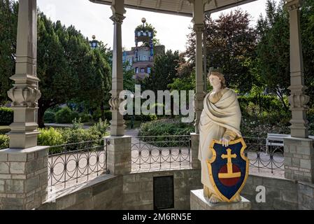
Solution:
<svg viewBox="0 0 314 224"><path fill-rule="evenodd" d="M266 146L266 139L264 138L243 138L247 148L245 149L245 156L250 160L250 167L257 169L268 169L271 174L274 171L284 170L284 150L283 146Z"/></svg>

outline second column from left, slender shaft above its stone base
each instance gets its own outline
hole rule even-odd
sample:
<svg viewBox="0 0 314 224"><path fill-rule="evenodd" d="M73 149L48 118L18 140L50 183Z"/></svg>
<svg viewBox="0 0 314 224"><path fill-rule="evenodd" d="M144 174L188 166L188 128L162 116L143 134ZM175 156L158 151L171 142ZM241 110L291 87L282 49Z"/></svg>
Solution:
<svg viewBox="0 0 314 224"><path fill-rule="evenodd" d="M113 78L112 78L112 90L111 99L109 104L111 107L112 120L110 120L110 134L111 136L124 135L124 120L123 115L119 111L120 103L123 99L120 99L119 94L123 90L123 65L122 65L122 32L121 25L124 20L124 0L113 0L111 10L113 15L110 17L113 20L114 32L113 32Z"/></svg>

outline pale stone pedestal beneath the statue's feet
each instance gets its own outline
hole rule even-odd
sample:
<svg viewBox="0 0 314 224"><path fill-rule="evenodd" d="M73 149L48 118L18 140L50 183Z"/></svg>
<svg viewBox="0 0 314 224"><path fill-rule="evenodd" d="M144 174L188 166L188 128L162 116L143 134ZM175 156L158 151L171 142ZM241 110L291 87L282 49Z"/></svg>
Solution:
<svg viewBox="0 0 314 224"><path fill-rule="evenodd" d="M191 190L191 210L250 210L251 202L241 197L240 202L211 204L203 195L203 189Z"/></svg>

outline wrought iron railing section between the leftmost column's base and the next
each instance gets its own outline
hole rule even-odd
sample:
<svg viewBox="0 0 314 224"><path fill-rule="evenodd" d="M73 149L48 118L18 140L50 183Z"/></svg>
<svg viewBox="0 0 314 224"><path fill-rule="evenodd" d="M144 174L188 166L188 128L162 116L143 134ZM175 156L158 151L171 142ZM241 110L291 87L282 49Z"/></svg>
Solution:
<svg viewBox="0 0 314 224"><path fill-rule="evenodd" d="M107 170L107 140L51 146L48 155L48 186L88 181Z"/></svg>

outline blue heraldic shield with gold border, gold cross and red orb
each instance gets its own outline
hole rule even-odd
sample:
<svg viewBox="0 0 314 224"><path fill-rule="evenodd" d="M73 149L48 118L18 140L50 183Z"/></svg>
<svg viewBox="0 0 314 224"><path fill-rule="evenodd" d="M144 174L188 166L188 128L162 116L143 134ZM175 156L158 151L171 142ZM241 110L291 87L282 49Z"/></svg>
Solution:
<svg viewBox="0 0 314 224"><path fill-rule="evenodd" d="M243 138L229 142L229 146L213 140L210 149L213 157L207 160L210 181L224 202L231 202L240 194L248 178L249 160L245 157Z"/></svg>

